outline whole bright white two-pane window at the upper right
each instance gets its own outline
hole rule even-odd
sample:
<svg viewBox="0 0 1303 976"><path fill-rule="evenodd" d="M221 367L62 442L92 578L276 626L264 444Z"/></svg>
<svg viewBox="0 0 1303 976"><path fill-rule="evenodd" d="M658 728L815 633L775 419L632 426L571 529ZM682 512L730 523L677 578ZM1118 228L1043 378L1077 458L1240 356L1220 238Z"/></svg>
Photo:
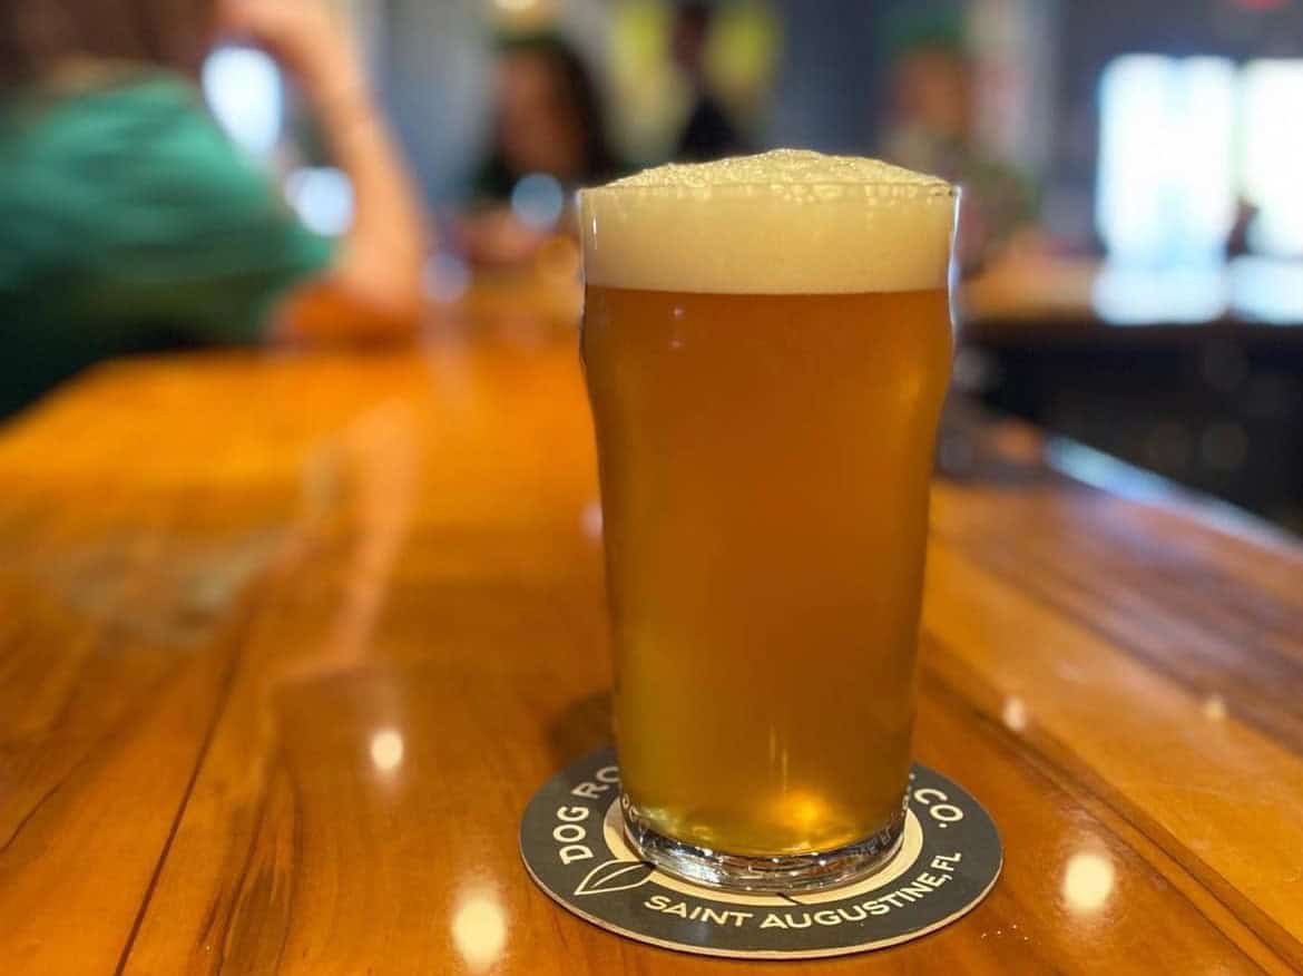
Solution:
<svg viewBox="0 0 1303 976"><path fill-rule="evenodd" d="M1096 223L1111 259L1220 261L1240 201L1251 248L1303 255L1303 61L1126 55L1100 82Z"/></svg>

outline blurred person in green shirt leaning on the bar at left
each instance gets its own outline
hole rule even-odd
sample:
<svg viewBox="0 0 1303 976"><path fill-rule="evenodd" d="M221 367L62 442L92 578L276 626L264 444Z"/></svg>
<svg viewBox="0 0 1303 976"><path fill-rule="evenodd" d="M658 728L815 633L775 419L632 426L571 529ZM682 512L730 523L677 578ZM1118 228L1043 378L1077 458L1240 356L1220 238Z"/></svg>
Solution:
<svg viewBox="0 0 1303 976"><path fill-rule="evenodd" d="M219 35L301 86L353 185L341 240L301 225L205 111ZM423 258L399 154L319 0L0 0L0 416L119 353L410 336Z"/></svg>

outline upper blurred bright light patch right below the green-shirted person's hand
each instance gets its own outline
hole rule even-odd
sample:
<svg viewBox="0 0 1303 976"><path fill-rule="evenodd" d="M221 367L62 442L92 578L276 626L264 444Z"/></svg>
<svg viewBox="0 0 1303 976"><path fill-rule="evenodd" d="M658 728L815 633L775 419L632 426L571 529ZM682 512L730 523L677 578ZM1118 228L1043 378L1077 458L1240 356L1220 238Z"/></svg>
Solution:
<svg viewBox="0 0 1303 976"><path fill-rule="evenodd" d="M262 51L220 47L203 64L203 98L212 115L250 155L271 155L284 124L280 69Z"/></svg>

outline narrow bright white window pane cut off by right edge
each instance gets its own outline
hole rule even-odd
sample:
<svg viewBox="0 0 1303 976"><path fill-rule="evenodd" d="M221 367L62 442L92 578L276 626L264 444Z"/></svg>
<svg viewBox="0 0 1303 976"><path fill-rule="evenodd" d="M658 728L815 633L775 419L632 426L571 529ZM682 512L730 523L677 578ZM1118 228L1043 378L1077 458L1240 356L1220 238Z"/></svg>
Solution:
<svg viewBox="0 0 1303 976"><path fill-rule="evenodd" d="M1240 102L1243 194L1259 208L1250 245L1303 255L1303 61L1250 61Z"/></svg>

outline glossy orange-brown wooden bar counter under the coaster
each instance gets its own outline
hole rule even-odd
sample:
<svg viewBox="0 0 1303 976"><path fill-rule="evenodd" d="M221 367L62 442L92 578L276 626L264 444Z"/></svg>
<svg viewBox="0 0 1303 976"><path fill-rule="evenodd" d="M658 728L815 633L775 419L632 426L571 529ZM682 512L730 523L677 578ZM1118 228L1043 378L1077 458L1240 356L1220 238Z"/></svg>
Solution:
<svg viewBox="0 0 1303 976"><path fill-rule="evenodd" d="M909 945L731 963L517 854L610 739L572 331L93 371L0 433L0 972L1299 971L1303 550L966 443L916 751L1003 876Z"/></svg>

